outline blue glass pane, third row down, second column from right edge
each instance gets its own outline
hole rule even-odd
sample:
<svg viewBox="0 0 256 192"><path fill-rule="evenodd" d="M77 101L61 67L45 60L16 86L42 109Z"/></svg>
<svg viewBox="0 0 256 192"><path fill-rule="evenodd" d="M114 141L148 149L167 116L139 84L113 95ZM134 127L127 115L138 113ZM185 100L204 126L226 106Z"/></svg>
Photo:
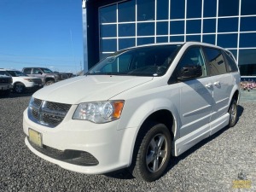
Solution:
<svg viewBox="0 0 256 192"><path fill-rule="evenodd" d="M219 34L218 46L223 48L236 48L237 47L237 33L234 34Z"/></svg>

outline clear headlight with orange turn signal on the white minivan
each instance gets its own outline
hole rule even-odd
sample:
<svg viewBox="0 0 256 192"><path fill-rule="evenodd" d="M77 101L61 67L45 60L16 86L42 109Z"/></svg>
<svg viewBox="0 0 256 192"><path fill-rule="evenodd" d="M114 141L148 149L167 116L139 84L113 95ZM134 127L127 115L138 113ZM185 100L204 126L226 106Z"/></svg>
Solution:
<svg viewBox="0 0 256 192"><path fill-rule="evenodd" d="M125 101L84 102L80 103L73 119L90 120L96 124L119 119Z"/></svg>

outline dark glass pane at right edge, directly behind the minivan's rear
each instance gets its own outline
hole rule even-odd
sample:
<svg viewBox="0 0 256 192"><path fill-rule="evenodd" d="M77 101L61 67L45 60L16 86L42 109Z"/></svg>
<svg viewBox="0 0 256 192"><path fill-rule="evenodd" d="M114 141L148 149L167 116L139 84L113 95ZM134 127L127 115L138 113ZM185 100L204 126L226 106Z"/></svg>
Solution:
<svg viewBox="0 0 256 192"><path fill-rule="evenodd" d="M239 68L241 75L256 75L256 49L239 50Z"/></svg>

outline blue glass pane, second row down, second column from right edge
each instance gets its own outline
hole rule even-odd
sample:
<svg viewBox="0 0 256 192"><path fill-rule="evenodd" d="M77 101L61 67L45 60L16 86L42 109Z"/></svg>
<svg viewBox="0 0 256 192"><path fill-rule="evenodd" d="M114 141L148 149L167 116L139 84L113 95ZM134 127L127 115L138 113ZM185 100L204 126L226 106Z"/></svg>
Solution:
<svg viewBox="0 0 256 192"><path fill-rule="evenodd" d="M238 18L218 19L218 32L237 32Z"/></svg>

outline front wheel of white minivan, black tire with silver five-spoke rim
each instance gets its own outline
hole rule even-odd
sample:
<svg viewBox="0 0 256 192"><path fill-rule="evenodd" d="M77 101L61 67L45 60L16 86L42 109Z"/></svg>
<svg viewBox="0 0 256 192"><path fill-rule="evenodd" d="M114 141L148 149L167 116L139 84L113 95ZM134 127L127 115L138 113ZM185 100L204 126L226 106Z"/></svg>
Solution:
<svg viewBox="0 0 256 192"><path fill-rule="evenodd" d="M139 132L135 144L133 160L129 171L133 177L147 182L160 178L166 171L171 158L172 137L170 131L163 124L147 124Z"/></svg>

